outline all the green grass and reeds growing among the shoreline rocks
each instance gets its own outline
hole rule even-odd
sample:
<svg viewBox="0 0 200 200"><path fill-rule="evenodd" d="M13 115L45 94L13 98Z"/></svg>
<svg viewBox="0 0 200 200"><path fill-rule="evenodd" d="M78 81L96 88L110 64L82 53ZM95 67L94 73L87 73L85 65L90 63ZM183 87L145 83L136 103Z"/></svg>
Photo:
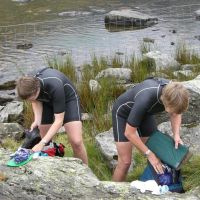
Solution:
<svg viewBox="0 0 200 200"><path fill-rule="evenodd" d="M90 90L89 81L94 79L96 75L106 68L121 68L126 67L132 70L131 80L132 83L137 83L144 80L148 76L161 76L164 74L169 79L176 79L178 81L186 81L195 78L200 74L200 55L189 50L186 45L180 45L176 49L175 60L181 65L190 64L192 75L185 76L183 74L176 77L171 68L156 71L155 62L152 59L143 57L144 53L151 50L149 43L141 45L141 58L136 58L134 55L126 61L122 61L120 55L115 55L112 58L97 57L93 55L92 62L86 63L81 66L81 72L78 76L76 67L70 55L66 55L63 60L58 60L56 57L48 59L49 66L60 70L66 74L75 84L81 101L83 113L89 113L92 116L91 120L83 121L83 136L84 143L87 148L89 167L100 180L111 180L112 171L108 168L104 157L100 150L96 147L95 136L103 131L111 128L111 106L113 101L125 91L125 88L118 84L114 78L101 78L98 82L101 89L96 91ZM180 69L182 70L180 65ZM29 128L33 121L33 112L31 105L24 102L24 127ZM57 134L55 136L56 142L61 142L65 145L65 156L72 156L72 150L67 143L64 134ZM16 142L13 139L5 139L3 146L15 151L23 141ZM127 181L131 182L139 178L146 166L146 159L139 152L136 152L135 163L133 172L131 172ZM200 156L193 156L193 158L184 165L182 169L183 184L186 191L200 185Z"/></svg>

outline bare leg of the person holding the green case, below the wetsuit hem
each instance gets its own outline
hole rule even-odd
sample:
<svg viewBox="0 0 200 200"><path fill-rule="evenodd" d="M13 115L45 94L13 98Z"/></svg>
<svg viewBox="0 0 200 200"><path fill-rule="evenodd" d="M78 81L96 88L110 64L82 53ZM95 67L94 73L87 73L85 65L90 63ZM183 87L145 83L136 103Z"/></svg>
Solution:
<svg viewBox="0 0 200 200"><path fill-rule="evenodd" d="M131 142L116 142L118 163L113 174L113 181L124 181L131 165L132 148Z"/></svg>

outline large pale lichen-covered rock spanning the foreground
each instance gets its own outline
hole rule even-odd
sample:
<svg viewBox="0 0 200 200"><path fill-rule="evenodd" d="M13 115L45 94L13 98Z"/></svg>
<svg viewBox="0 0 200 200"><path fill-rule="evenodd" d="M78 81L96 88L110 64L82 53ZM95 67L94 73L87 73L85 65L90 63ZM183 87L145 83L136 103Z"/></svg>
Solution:
<svg viewBox="0 0 200 200"><path fill-rule="evenodd" d="M2 200L198 200L200 189L186 194L155 196L132 189L130 183L99 181L79 159L40 157L25 166L7 167L9 152L0 149L0 199Z"/></svg>

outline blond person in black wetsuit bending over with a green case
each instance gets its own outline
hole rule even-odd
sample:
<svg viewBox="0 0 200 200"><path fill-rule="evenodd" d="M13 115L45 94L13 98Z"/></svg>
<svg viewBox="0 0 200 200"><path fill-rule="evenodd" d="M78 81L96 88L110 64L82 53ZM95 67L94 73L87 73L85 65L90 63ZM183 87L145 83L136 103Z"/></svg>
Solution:
<svg viewBox="0 0 200 200"><path fill-rule="evenodd" d="M188 104L188 90L179 82L162 78L146 79L118 97L112 110L118 151L114 181L125 180L133 146L147 156L157 173L163 173L159 158L145 145L148 137L157 130L154 114L164 110L169 113L175 148L178 148L178 144L182 143L179 134L181 113L187 110Z"/></svg>

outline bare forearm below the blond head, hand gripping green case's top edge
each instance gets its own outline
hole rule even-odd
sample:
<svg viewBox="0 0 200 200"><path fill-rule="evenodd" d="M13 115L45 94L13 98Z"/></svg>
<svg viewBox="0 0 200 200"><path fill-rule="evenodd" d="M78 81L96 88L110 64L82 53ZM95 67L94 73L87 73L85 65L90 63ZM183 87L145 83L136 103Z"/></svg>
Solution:
<svg viewBox="0 0 200 200"><path fill-rule="evenodd" d="M182 140L180 138L180 127L181 127L181 119L182 115L181 114L175 114L171 113L170 114L170 122L172 126L172 132L174 135L174 141L175 141L175 148L178 148L178 144L182 144Z"/></svg>

